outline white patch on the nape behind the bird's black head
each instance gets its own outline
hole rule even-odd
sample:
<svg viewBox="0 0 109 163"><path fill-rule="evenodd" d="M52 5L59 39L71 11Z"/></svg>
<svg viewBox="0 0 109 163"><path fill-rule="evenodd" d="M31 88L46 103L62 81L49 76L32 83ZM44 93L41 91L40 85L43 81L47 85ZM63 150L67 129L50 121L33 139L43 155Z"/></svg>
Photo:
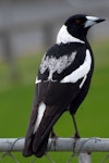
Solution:
<svg viewBox="0 0 109 163"><path fill-rule="evenodd" d="M57 36L57 43L69 43L69 42L81 42L81 43L85 43L83 40L73 37L72 35L69 34L66 26L63 25L61 27L61 29L58 33Z"/></svg>

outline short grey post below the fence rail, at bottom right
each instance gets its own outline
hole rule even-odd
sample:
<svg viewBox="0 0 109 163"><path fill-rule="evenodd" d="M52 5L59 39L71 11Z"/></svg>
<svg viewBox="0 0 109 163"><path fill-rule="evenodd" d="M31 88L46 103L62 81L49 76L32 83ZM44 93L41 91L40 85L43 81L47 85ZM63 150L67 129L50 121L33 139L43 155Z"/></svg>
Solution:
<svg viewBox="0 0 109 163"><path fill-rule="evenodd" d="M80 153L78 154L78 163L92 163L90 154Z"/></svg>

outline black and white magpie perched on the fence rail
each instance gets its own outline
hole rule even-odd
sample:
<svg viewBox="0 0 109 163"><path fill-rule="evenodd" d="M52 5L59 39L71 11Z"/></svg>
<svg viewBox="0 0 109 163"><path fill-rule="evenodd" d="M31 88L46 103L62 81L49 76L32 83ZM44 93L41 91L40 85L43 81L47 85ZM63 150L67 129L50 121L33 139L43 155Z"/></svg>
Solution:
<svg viewBox="0 0 109 163"><path fill-rule="evenodd" d="M74 121L94 71L94 55L86 35L89 27L102 21L83 14L71 16L60 28L57 42L44 54L35 83L24 156L45 154L52 127L65 111L70 111Z"/></svg>

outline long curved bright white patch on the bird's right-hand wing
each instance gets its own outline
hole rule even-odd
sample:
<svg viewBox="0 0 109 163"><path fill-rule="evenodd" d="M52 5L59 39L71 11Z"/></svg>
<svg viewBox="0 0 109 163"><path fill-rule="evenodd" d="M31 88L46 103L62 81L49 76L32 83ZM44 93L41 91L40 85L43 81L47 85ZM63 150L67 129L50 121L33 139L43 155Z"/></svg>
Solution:
<svg viewBox="0 0 109 163"><path fill-rule="evenodd" d="M92 65L92 58L90 58L89 50L87 49L84 63L78 68L76 68L74 72L72 72L70 75L65 76L61 80L61 83L76 83L78 79L84 77L84 79L82 80L82 83L80 85L80 88L82 88L82 86L86 79L86 76L90 70L90 65Z"/></svg>

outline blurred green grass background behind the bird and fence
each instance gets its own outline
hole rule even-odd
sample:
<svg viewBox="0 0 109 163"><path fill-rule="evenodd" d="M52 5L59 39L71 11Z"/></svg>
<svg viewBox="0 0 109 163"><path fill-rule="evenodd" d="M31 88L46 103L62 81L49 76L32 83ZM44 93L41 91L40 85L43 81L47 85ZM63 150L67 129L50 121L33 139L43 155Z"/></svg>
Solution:
<svg viewBox="0 0 109 163"><path fill-rule="evenodd" d="M76 113L78 130L82 137L109 137L109 46L108 40L92 43L95 54L95 72L89 93ZM24 137L31 106L34 97L34 83L43 54L17 58L16 70L19 76L15 83L10 77L9 66L0 62L0 137ZM60 129L61 128L61 129ZM69 113L55 126L61 137L71 137L74 134L72 118ZM22 153L14 153L20 162L27 163ZM57 163L65 162L71 153L50 152ZM93 162L99 163L106 153L94 153ZM2 162L13 162L9 156ZM37 162L48 162L45 158ZM74 162L77 162L74 159Z"/></svg>

